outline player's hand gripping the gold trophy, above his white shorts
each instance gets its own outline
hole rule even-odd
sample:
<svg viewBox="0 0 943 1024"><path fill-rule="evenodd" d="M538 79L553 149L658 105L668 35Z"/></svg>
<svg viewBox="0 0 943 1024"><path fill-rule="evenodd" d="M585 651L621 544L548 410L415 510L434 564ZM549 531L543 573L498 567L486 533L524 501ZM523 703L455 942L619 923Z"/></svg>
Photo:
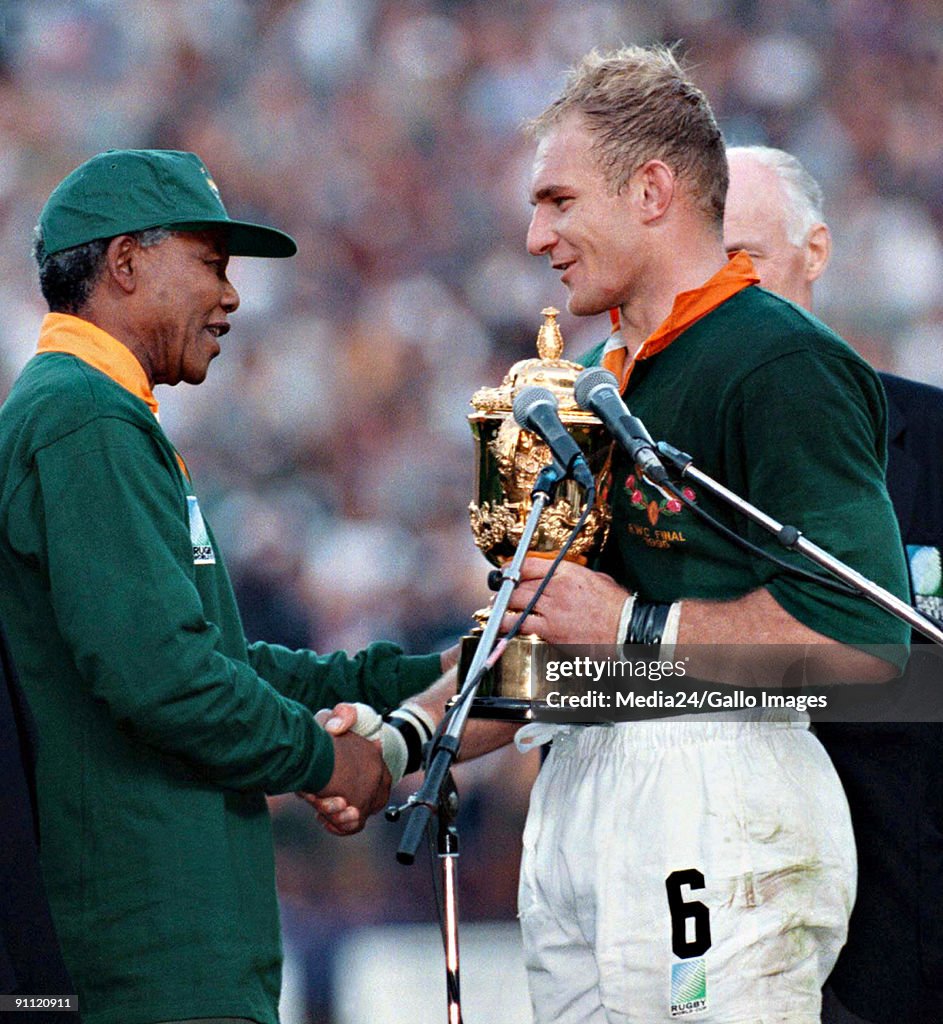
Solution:
<svg viewBox="0 0 943 1024"><path fill-rule="evenodd" d="M510 631L523 611L550 562L525 558L521 582L511 595L501 624ZM552 644L613 644L628 592L605 572L596 572L576 562L561 562L534 610L524 620L521 633L535 634Z"/></svg>

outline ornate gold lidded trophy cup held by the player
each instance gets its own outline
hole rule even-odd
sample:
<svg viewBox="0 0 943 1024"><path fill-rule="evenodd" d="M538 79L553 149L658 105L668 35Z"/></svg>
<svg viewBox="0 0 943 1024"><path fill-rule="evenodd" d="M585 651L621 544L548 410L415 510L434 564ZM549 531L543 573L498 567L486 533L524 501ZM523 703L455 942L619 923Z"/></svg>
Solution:
<svg viewBox="0 0 943 1024"><path fill-rule="evenodd" d="M597 555L609 531L608 494L612 438L591 413L580 409L573 381L583 367L563 358L558 310L542 310L538 357L515 362L498 387L474 393L469 423L475 440L475 500L469 505L475 544L492 565L509 561L524 531L532 490L541 471L552 463L550 449L512 415L515 397L526 387L540 386L556 398L560 419L583 450L596 480L596 500L567 558L584 564ZM583 489L571 479L557 484L554 501L541 517L529 555L548 559L560 551L583 511ZM488 611L475 612L478 626L462 638L459 688L465 681ZM525 627L526 628L526 627ZM549 645L535 636L517 636L501 659L481 679L470 714L477 718L528 722L545 696L541 666Z"/></svg>

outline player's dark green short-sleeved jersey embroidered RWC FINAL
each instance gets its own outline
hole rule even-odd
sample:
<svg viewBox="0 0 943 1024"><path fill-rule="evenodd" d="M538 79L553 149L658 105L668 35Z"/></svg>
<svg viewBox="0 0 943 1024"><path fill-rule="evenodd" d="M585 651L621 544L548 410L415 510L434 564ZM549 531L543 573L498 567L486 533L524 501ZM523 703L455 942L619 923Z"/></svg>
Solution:
<svg viewBox="0 0 943 1024"><path fill-rule="evenodd" d="M597 365L604 344L582 361ZM625 398L656 440L853 568L907 599L884 482L887 411L877 375L814 316L745 288L636 362ZM689 487L726 526L805 569L803 556ZM863 598L798 580L734 547L641 479L618 453L600 567L646 600L731 600L766 587L791 615L849 644L900 644L908 628Z"/></svg>

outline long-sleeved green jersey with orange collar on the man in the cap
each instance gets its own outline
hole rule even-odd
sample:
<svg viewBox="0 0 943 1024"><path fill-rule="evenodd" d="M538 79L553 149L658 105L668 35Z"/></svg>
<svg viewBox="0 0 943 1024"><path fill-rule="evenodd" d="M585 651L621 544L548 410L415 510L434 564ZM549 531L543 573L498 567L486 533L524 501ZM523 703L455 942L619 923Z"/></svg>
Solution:
<svg viewBox="0 0 943 1024"><path fill-rule="evenodd" d="M90 324L50 314L43 339L0 410L0 620L37 719L43 869L83 1019L274 1024L265 794L328 781L313 710L395 706L439 658L247 646L149 388L68 354L87 342L111 365L93 349L119 343Z"/></svg>

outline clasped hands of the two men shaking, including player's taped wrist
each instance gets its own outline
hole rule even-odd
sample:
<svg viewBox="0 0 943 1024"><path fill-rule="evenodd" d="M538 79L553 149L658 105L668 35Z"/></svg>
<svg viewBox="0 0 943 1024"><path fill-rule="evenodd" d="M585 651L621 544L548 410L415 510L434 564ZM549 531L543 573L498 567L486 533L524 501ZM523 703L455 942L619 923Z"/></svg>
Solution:
<svg viewBox="0 0 943 1024"><path fill-rule="evenodd" d="M422 766L435 724L419 705L403 705L384 719L367 705L339 703L316 718L334 739L334 773L317 793L299 796L328 831L351 836L386 805L391 786Z"/></svg>

